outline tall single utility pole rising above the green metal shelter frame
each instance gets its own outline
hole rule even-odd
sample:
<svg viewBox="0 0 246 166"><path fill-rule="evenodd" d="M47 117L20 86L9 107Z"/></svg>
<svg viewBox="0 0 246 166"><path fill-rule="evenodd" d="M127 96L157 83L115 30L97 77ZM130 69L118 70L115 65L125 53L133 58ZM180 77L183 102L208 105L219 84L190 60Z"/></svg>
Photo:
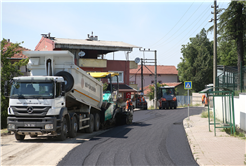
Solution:
<svg viewBox="0 0 246 166"><path fill-rule="evenodd" d="M214 12L211 12L214 14L214 19L211 19L209 22L214 21L214 59L213 59L213 85L216 86L216 79L217 79L217 2L214 0L214 6L211 6L211 8L214 8Z"/></svg>

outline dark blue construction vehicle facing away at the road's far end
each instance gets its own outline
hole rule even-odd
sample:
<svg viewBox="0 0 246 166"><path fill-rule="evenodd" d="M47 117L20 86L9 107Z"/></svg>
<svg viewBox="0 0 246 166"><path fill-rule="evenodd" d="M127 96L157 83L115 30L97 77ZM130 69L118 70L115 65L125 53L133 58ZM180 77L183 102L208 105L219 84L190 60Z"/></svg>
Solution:
<svg viewBox="0 0 246 166"><path fill-rule="evenodd" d="M175 95L174 86L163 86L160 87L158 94L159 109L176 109L177 108L177 98Z"/></svg>

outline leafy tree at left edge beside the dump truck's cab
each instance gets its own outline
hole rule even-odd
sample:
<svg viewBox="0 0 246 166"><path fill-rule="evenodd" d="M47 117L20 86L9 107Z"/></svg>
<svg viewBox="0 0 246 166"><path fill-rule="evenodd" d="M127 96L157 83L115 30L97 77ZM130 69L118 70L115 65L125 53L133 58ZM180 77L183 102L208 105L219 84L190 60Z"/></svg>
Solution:
<svg viewBox="0 0 246 166"><path fill-rule="evenodd" d="M28 63L28 59L22 59L18 62L11 63L11 57L22 51L21 43L8 43L3 39L0 43L0 126L6 127L6 117L8 108L8 98L4 96L5 81L11 80L14 76L23 75L19 68ZM7 46L9 45L9 46ZM8 85L10 89L10 85Z"/></svg>

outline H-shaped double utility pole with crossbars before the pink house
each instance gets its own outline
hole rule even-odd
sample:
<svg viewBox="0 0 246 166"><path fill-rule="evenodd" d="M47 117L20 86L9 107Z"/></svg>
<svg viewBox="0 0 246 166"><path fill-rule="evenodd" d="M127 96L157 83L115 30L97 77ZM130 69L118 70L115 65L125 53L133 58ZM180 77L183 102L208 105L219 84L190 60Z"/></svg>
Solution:
<svg viewBox="0 0 246 166"><path fill-rule="evenodd" d="M144 63L154 63L155 64L154 108L157 109L157 51L156 50L150 50L150 49L141 50L141 48L139 49L139 51L143 51L143 52L146 51L146 52L154 52L155 53L155 59L143 59L143 58L141 58L141 75L142 75L142 70L143 70L143 61L144 61ZM147 61L147 60L150 60L150 61ZM142 81L142 90L143 90L143 79L142 78L141 78L141 81Z"/></svg>

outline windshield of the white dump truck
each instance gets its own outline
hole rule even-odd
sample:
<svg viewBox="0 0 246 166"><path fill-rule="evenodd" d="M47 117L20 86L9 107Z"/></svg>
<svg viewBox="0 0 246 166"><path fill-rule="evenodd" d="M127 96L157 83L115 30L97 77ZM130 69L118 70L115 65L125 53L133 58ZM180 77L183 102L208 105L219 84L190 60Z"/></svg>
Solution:
<svg viewBox="0 0 246 166"><path fill-rule="evenodd" d="M54 98L53 82L14 82L10 98L15 99L51 99Z"/></svg>

